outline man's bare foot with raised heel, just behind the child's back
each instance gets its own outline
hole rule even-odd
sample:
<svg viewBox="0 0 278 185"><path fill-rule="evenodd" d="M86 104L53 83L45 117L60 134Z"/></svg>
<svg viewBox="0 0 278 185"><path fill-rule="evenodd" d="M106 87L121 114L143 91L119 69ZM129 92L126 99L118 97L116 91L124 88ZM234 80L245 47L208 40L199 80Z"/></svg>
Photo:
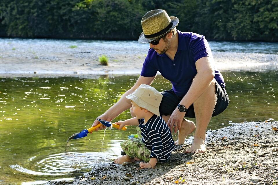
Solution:
<svg viewBox="0 0 278 185"><path fill-rule="evenodd" d="M182 145L186 137L195 130L195 127L193 121L184 119L178 132L178 140L175 141L175 145Z"/></svg>

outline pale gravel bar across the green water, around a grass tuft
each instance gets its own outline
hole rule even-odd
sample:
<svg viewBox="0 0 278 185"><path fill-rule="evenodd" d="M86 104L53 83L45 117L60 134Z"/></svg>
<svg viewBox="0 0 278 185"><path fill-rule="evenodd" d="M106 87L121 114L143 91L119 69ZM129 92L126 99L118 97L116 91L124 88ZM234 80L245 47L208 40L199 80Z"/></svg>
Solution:
<svg viewBox="0 0 278 185"><path fill-rule="evenodd" d="M0 45L0 77L91 78L101 74L140 74L149 45L137 42L66 42L59 40L4 40ZM105 55L108 66L100 65ZM278 69L278 55L213 51L220 70Z"/></svg>

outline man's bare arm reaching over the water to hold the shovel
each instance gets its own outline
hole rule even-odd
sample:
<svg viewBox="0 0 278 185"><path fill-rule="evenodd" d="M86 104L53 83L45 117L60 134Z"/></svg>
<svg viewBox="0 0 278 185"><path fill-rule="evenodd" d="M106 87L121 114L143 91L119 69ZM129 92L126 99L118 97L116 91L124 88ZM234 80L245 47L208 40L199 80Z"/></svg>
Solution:
<svg viewBox="0 0 278 185"><path fill-rule="evenodd" d="M110 107L105 113L98 116L98 119L111 121L114 118L116 118L119 114L121 114L122 112L124 112L125 110L130 108L131 102L129 99L126 98L126 96L133 93L141 84L151 85L151 83L153 82L155 77L156 76L153 76L153 77L139 76L139 78L137 79L134 86L130 90L125 92L125 94L120 98L120 100L117 103L115 103L112 107ZM96 126L98 123L99 123L99 121L96 119L92 126ZM103 129L103 126L100 126L99 129ZM98 130L98 128L96 129L96 131L97 130Z"/></svg>

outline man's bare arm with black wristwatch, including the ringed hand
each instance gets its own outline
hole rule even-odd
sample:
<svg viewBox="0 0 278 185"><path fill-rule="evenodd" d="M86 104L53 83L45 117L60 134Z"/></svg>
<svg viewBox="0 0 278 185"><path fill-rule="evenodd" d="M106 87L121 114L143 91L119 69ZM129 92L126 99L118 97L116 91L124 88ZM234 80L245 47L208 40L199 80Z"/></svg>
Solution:
<svg viewBox="0 0 278 185"><path fill-rule="evenodd" d="M209 87L211 81L214 78L214 60L211 57L202 57L196 61L196 69L197 75L195 76L188 92L182 100L180 101L180 105L185 106L185 108L189 108L191 104L202 95L202 93ZM172 131L173 125L178 125L178 127L174 127L175 133L177 132L177 128L180 129L182 119L184 118L185 112L180 112L178 108L176 108L167 123L169 128Z"/></svg>

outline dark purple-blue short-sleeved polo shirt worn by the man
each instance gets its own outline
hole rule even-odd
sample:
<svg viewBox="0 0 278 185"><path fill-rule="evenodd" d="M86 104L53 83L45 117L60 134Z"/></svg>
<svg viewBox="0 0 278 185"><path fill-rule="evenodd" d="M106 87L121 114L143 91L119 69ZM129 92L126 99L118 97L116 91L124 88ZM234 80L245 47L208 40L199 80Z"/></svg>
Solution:
<svg viewBox="0 0 278 185"><path fill-rule="evenodd" d="M164 78L172 83L175 94L183 97L197 74L195 62L202 57L213 56L204 36L178 30L177 34L179 43L174 60L171 60L165 53L160 55L150 48L140 75L153 77L159 71ZM225 88L224 78L216 68L214 78L218 84Z"/></svg>

